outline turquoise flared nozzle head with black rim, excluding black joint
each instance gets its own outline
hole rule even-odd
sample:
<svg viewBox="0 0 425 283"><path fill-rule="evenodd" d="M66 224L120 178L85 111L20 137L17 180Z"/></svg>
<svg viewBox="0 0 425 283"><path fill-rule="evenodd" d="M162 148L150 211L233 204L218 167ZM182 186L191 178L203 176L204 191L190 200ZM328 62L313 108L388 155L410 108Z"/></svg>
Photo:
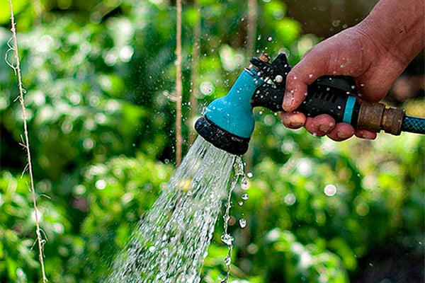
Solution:
<svg viewBox="0 0 425 283"><path fill-rule="evenodd" d="M195 124L198 134L230 154L244 154L254 131L251 98L263 83L254 72L245 69L227 96L213 100L205 108L204 117Z"/></svg>

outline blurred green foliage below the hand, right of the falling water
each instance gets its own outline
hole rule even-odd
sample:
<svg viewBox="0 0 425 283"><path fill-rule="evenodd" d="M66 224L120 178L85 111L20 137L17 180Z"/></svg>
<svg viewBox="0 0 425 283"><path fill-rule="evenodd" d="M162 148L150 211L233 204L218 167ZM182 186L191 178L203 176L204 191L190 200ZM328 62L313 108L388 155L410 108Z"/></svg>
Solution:
<svg viewBox="0 0 425 283"><path fill-rule="evenodd" d="M248 222L249 231L235 225L233 232L241 238L235 264L245 266L246 275L261 274L265 282L348 282L361 271L358 260L377 247L423 255L423 137L335 144L277 121L269 126L273 136L255 136L256 145L291 149L290 158L285 165L263 158L249 190L234 195L234 219ZM280 144L285 137L292 146ZM239 207L246 192L249 200Z"/></svg>

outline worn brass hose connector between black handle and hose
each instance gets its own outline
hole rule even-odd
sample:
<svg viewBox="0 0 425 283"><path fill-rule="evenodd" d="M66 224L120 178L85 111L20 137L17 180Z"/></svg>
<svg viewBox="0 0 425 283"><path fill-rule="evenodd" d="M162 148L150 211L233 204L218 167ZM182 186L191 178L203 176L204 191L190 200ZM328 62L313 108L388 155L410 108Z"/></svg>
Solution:
<svg viewBox="0 0 425 283"><path fill-rule="evenodd" d="M402 108L386 108L382 103L363 101L358 112L357 128L380 132L383 129L390 134L402 132L404 110Z"/></svg>

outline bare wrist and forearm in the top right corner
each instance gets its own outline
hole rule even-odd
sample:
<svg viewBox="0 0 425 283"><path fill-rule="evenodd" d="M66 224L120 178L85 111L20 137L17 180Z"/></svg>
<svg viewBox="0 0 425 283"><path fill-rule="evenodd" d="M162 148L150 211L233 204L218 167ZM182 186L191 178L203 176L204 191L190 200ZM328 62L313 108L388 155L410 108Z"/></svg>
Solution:
<svg viewBox="0 0 425 283"><path fill-rule="evenodd" d="M425 47L424 11L424 0L381 0L359 28L383 52L408 64Z"/></svg>

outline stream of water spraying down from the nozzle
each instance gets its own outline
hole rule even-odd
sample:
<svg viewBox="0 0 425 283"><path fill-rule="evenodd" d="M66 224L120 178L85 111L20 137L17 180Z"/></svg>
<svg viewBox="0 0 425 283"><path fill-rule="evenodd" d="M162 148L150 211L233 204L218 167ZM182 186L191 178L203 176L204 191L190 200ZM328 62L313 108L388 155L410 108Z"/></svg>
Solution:
<svg viewBox="0 0 425 283"><path fill-rule="evenodd" d="M166 189L133 230L104 282L200 282L200 268L226 197L222 241L229 254L222 282L227 282L233 240L227 233L230 195L241 175L243 164L238 156L198 137Z"/></svg>

